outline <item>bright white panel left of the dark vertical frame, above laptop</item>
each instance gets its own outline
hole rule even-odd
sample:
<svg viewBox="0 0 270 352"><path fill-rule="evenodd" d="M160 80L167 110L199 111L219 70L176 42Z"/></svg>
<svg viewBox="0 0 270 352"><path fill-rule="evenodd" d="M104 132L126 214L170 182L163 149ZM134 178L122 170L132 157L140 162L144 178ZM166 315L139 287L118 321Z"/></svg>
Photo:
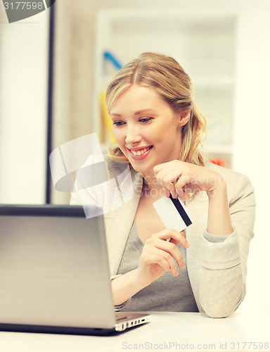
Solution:
<svg viewBox="0 0 270 352"><path fill-rule="evenodd" d="M49 10L0 32L0 203L44 203Z"/></svg>

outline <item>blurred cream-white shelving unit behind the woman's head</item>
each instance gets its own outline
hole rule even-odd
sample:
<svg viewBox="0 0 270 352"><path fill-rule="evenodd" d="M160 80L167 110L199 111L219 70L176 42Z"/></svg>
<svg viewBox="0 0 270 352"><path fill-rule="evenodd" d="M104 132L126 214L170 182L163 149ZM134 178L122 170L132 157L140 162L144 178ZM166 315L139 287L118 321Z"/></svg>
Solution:
<svg viewBox="0 0 270 352"><path fill-rule="evenodd" d="M104 51L110 51L122 64L144 51L174 57L190 75L195 103L207 118L205 149L230 167L237 20L237 13L224 11L101 11L96 21L96 96L116 72L105 63ZM101 135L100 111L96 99L94 129Z"/></svg>

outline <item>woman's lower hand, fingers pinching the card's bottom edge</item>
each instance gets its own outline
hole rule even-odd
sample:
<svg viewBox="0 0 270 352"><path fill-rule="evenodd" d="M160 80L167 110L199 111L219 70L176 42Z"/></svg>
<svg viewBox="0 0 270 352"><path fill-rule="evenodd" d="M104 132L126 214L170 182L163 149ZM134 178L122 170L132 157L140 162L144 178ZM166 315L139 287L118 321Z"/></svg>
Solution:
<svg viewBox="0 0 270 352"><path fill-rule="evenodd" d="M171 271L174 276L179 274L176 264L183 269L184 260L177 248L178 244L185 248L189 246L184 231L174 229L162 230L146 240L137 270L138 280L143 286L148 286L165 272Z"/></svg>

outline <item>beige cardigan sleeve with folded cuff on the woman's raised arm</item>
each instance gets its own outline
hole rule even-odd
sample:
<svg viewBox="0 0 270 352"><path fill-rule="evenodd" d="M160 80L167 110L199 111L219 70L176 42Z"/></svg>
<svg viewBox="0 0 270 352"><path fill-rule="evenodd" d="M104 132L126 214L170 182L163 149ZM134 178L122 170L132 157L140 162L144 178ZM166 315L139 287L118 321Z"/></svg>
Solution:
<svg viewBox="0 0 270 352"><path fill-rule="evenodd" d="M200 258L200 303L213 318L231 315L246 292L247 260L255 221L255 195L248 177L239 175L229 206L233 234L204 234Z"/></svg>

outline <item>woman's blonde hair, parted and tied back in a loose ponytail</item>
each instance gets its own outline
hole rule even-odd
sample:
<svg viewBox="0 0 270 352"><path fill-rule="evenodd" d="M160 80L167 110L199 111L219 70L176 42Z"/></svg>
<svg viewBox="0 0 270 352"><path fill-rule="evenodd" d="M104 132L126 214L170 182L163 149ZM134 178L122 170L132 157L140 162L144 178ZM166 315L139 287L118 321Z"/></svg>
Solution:
<svg viewBox="0 0 270 352"><path fill-rule="evenodd" d="M181 65L174 58L154 53L143 53L127 63L108 86L106 104L109 113L117 97L132 84L155 89L176 113L190 112L190 118L182 128L179 160L204 166L201 146L207 134L206 120L193 103L191 79ZM117 144L109 147L108 157L127 161Z"/></svg>

